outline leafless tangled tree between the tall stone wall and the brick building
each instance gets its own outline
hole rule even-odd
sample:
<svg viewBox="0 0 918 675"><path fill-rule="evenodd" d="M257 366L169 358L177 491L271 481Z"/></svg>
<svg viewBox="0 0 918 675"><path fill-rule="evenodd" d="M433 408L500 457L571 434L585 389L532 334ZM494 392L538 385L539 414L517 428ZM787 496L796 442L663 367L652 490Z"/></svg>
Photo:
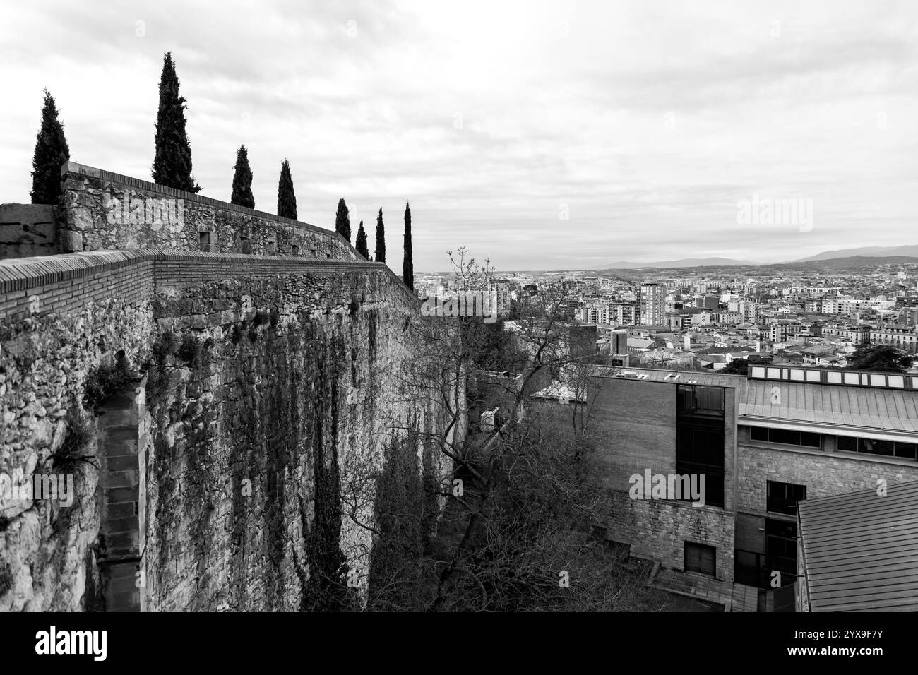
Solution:
<svg viewBox="0 0 918 675"><path fill-rule="evenodd" d="M487 261L476 264L464 248L450 257L454 294L481 298L489 291ZM483 367L493 366L482 355L493 346L494 329L473 312L423 317L414 325L413 353L399 377L405 402L435 423L392 420L404 444L387 457L388 477L364 472L360 478L355 471L342 490L352 519L374 503L373 518L364 519L372 523L363 523L375 534L371 609L609 610L646 600L647 570L610 557L590 534L604 502L584 405L595 354L577 351L565 303L560 290L546 290L504 326L504 362L520 366L516 373ZM546 384L559 388L558 400L532 398ZM506 410L494 427L469 425L477 395ZM396 468L404 461L398 457L419 454L424 462L448 462ZM436 525L430 506L419 505L431 498L434 516L443 507ZM652 604L659 609L665 602Z"/></svg>

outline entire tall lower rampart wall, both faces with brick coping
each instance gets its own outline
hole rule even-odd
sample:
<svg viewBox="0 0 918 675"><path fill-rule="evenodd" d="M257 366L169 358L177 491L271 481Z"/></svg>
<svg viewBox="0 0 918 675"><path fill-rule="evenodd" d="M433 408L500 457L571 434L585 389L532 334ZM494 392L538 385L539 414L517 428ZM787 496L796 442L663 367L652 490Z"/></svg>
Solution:
<svg viewBox="0 0 918 675"><path fill-rule="evenodd" d="M81 453L117 459L106 469L127 484L110 489L138 494L136 525L112 525L126 541L138 529L142 607L296 609L316 458L341 485L372 478L394 434L439 423L398 388L418 314L385 264L162 250L2 261L0 472L56 470L82 428ZM137 441L106 457L120 436L82 402L119 357L146 373L146 400ZM76 478L72 507L0 502L0 611L97 608L102 486L95 467ZM364 586L372 482L365 496L362 524L343 514L338 537Z"/></svg>

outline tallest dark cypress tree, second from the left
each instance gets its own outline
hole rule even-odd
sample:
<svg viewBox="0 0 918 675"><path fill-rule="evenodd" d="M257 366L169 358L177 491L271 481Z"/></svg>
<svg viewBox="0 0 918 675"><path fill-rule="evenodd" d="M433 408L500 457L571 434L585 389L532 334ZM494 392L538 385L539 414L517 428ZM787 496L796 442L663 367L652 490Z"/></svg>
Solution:
<svg viewBox="0 0 918 675"><path fill-rule="evenodd" d="M156 113L156 156L153 182L186 192L200 192L191 174L191 146L185 133L185 96L178 94L178 75L172 52L162 57L160 107Z"/></svg>

